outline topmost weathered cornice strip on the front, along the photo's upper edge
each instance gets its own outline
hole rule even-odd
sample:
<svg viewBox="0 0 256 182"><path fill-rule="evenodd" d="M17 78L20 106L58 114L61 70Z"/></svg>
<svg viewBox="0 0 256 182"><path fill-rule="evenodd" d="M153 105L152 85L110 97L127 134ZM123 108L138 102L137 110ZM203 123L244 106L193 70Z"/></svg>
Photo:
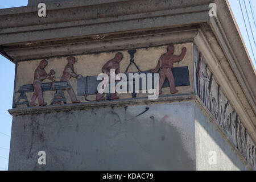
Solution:
<svg viewBox="0 0 256 182"><path fill-rule="evenodd" d="M175 1L150 1L150 0L73 0L73 1L64 1L58 3L46 3L47 10L55 11L57 13L58 10L77 10L77 8L81 9L91 9L92 7L105 7L113 6L113 9L117 9L121 6L125 7L125 9L121 9L121 14L129 14L130 11L133 13L130 14L137 14L143 12L150 12L150 11L158 11L158 10L171 10L171 9L179 9L184 7L193 7L199 5L209 5L210 0L175 0ZM126 10L126 11L125 11ZM21 14L28 14L28 13L36 13L37 14L38 7L37 5L32 6L22 6L22 7L14 7L8 9L0 9L0 16L4 15L21 15ZM104 12L107 16L109 12ZM113 13L113 12L112 12ZM115 12L117 13L117 12ZM96 12L97 14L97 12ZM36 18L36 17L34 17ZM63 14L63 18L67 18L67 14ZM84 19L86 16L84 16ZM98 17L96 17L98 18ZM34 19L35 20L35 19ZM38 20L36 20L38 21ZM30 20L30 22L33 22Z"/></svg>

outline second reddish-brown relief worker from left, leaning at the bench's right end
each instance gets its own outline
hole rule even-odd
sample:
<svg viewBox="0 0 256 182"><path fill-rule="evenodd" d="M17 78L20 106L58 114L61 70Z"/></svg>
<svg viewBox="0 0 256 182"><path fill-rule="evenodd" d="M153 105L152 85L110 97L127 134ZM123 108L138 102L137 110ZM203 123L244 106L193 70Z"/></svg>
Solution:
<svg viewBox="0 0 256 182"><path fill-rule="evenodd" d="M74 92L74 90L73 90L69 80L72 77L74 77L74 78L81 78L82 76L81 75L77 75L75 73L75 71L74 71L74 64L77 61L76 58L73 57L73 56L69 56L67 58L67 60L68 60L68 64L66 65L66 67L65 67L65 69L63 71L63 75L61 76L60 81L67 81L68 82L70 88L67 89L67 91L68 91L69 97L71 98L72 103L80 103L80 101L77 100L77 98L76 98L76 94L75 94L75 92ZM63 92L64 92L64 90L63 90ZM60 97L61 96L57 96L56 99L58 99ZM61 104L61 102L56 101L56 102L54 102L54 104Z"/></svg>

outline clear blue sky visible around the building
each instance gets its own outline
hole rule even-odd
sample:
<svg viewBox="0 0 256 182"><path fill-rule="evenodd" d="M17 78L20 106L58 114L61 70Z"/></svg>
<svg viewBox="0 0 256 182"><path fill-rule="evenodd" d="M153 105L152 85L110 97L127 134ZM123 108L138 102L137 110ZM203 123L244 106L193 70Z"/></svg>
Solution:
<svg viewBox="0 0 256 182"><path fill-rule="evenodd" d="M240 8L240 2L243 10L243 15ZM240 2L238 0L229 0L233 14L240 28L243 40L246 44L247 51L249 52L251 60L254 63L254 67L256 67L256 62L254 59L254 57L256 58L256 46L255 46L256 1L240 0ZM245 9L245 4L247 8L247 13ZM0 3L0 9L5 9L9 7L19 7L19 6L27 6L27 0L8 0L8 1L2 0ZM252 9L252 11L250 8ZM243 17L245 19L245 22L243 20ZM249 21L250 21L250 24L249 24ZM247 26L247 31L246 31L245 23ZM249 37L247 35L247 32L249 34ZM2 68L0 71L0 84L4 85L4 87L2 86L2 89L0 90L0 100L1 100L1 104L0 104L0 171L1 170L5 171L8 168L11 122L12 122L12 117L7 110L11 109L12 103L13 103L15 65L11 63L11 61L7 60L5 57L0 55L0 68Z"/></svg>

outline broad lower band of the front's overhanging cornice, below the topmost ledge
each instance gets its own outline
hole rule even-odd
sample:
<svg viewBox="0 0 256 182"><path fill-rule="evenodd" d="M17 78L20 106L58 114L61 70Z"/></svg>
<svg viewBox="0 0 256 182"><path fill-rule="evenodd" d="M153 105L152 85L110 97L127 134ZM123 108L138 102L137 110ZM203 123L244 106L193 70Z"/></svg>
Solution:
<svg viewBox="0 0 256 182"><path fill-rule="evenodd" d="M53 41L53 39L67 39L79 36L105 36L114 32L155 30L158 28L177 27L180 22L182 24L207 22L209 20L207 15L208 6L203 5L104 18L96 18L94 16L90 19L77 18L78 20L65 20L63 18L62 21L64 22L60 20L59 22L57 20L53 21L51 20L52 18L49 18L49 22L33 23L32 20L27 19L37 15L31 15L26 19L28 22L19 23L17 21L10 23L10 26L8 26L9 22L5 22L7 21L6 18L0 16L0 20L2 18L3 24L5 24L0 31L0 40L2 49L5 50L6 45L11 44L14 46L22 42L26 42L25 45L27 46L35 46L38 41L42 40ZM10 22L12 22L12 19Z"/></svg>

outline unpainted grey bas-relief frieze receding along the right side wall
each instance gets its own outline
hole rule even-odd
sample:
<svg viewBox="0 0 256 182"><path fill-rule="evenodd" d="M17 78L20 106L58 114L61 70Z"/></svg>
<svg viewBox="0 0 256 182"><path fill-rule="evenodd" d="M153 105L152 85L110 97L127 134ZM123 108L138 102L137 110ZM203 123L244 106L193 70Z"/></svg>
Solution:
<svg viewBox="0 0 256 182"><path fill-rule="evenodd" d="M221 128L234 145L242 153L247 162L256 169L256 149L255 144L247 134L240 117L229 103L221 85L218 85L216 79L208 65L205 64L204 57L195 57L196 69L196 88L197 94L204 105L214 115Z"/></svg>

